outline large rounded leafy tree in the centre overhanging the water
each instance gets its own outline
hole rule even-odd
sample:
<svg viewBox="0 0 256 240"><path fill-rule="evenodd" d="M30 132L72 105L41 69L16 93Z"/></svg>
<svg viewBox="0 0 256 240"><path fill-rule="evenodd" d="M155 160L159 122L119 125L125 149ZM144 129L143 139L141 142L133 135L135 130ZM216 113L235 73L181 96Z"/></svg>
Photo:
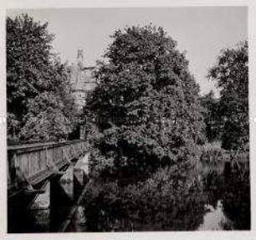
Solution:
<svg viewBox="0 0 256 240"><path fill-rule="evenodd" d="M85 111L104 136L102 153L115 166L194 159L204 141L202 106L177 43L151 25L118 30L112 38L109 63L98 66L100 84Z"/></svg>

